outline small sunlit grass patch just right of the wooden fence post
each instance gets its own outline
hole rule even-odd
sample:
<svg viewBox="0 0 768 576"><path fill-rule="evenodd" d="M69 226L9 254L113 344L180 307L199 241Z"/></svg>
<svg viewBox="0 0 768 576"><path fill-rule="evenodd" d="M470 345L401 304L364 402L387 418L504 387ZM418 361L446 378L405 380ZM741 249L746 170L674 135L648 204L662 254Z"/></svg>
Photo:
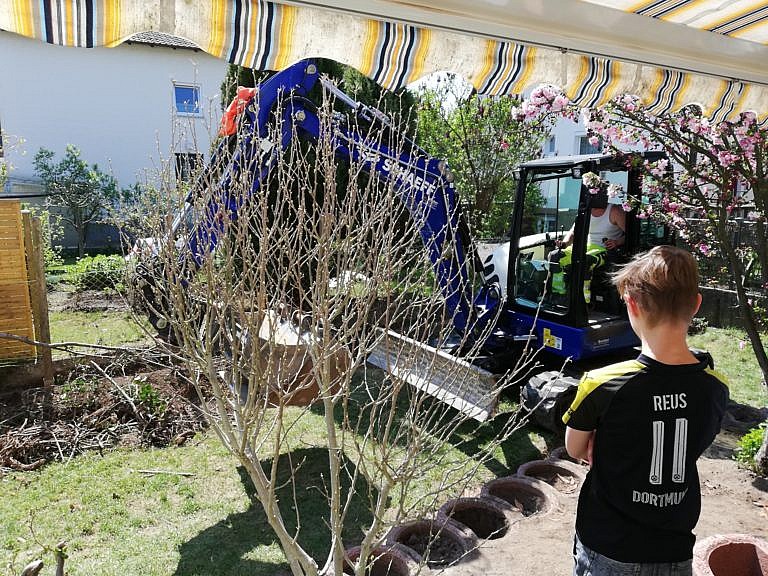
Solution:
<svg viewBox="0 0 768 576"><path fill-rule="evenodd" d="M51 312L52 342L84 342L121 346L145 340L147 335L130 312Z"/></svg>

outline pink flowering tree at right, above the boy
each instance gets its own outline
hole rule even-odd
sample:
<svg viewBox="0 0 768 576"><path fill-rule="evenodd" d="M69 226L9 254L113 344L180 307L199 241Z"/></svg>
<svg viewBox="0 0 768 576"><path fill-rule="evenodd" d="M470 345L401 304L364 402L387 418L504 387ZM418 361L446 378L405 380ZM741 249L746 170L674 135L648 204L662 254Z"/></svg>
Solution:
<svg viewBox="0 0 768 576"><path fill-rule="evenodd" d="M558 98L561 94L551 86L540 87L530 102L521 106L521 114L534 119L537 114L563 111L562 116L574 119L574 107ZM637 208L639 218L670 226L706 261L714 257L725 261L725 276L736 289L745 329L768 380L768 355L745 288L747 274L740 254L743 246L735 243L729 228L733 217L742 213L753 223L760 284L768 286L768 127L760 126L752 112L744 112L733 121L714 122L696 106L656 116L633 95L584 110L582 118L589 141L602 143L606 152L666 152L667 159L636 166L644 174L642 199L618 190L612 191L614 197L619 196L627 210ZM636 158L627 155L628 162L637 162ZM590 191L599 186L591 176L584 183Z"/></svg>

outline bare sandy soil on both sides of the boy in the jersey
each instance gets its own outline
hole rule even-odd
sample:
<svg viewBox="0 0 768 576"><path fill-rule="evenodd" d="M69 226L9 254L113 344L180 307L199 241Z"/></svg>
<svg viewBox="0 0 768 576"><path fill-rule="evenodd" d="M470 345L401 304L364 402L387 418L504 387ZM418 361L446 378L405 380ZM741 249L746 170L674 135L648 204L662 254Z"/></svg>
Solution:
<svg viewBox="0 0 768 576"><path fill-rule="evenodd" d="M756 477L733 460L739 435L722 432L699 460L702 512L695 533L751 534L768 540L768 479ZM518 519L480 553L445 570L446 576L569 576L578 492L560 495L558 509Z"/></svg>

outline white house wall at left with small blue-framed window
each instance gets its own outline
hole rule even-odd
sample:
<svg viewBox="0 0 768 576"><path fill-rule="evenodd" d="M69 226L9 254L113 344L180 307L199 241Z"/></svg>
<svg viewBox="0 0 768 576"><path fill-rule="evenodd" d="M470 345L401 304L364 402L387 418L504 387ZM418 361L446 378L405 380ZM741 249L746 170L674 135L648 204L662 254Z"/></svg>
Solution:
<svg viewBox="0 0 768 576"><path fill-rule="evenodd" d="M58 159L73 144L123 187L156 175L174 152L207 155L225 71L224 61L202 51L64 48L0 32L0 124L12 181L34 179L41 147ZM201 117L174 113L174 82L200 87Z"/></svg>

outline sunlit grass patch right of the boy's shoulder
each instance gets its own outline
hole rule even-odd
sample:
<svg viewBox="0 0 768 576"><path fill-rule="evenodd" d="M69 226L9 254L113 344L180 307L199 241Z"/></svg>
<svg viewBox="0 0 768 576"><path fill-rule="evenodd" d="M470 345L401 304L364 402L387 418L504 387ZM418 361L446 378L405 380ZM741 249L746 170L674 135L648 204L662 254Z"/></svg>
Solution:
<svg viewBox="0 0 768 576"><path fill-rule="evenodd" d="M768 343L768 335L763 335ZM688 338L688 343L708 350L715 368L729 380L731 399L750 406L768 406L768 391L746 333L736 328L708 328Z"/></svg>

